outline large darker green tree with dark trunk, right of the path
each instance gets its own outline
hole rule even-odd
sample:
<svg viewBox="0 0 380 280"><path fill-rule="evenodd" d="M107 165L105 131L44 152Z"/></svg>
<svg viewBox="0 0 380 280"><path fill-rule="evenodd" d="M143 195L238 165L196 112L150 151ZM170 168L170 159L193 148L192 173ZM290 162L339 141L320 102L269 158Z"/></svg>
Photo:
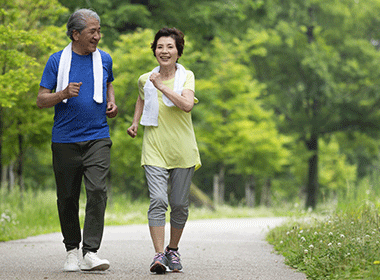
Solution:
<svg viewBox="0 0 380 280"><path fill-rule="evenodd" d="M268 55L252 56L266 102L284 116L281 131L310 151L306 207L318 198L321 137L379 131L379 1L267 1Z"/></svg>

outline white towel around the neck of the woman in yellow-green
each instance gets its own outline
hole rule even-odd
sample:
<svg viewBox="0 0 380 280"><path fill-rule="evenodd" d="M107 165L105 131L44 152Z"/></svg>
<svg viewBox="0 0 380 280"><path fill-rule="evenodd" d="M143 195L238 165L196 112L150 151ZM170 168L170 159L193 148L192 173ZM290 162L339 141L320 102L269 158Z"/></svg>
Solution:
<svg viewBox="0 0 380 280"><path fill-rule="evenodd" d="M181 95L183 91L183 86L186 82L186 69L179 63L176 63L177 70L174 77L174 87L173 90L177 94ZM150 81L150 75L152 73L158 73L160 71L160 66L157 66L150 72L148 79L144 85L144 109L141 117L140 124L144 126L158 126L158 97L157 89ZM169 98L162 94L162 100L164 104L168 107L175 106Z"/></svg>

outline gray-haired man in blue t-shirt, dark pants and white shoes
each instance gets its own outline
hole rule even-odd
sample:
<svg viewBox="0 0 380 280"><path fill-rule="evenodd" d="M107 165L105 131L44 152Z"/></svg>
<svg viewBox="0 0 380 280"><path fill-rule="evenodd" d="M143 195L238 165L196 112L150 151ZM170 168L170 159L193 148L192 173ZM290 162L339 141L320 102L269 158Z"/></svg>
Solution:
<svg viewBox="0 0 380 280"><path fill-rule="evenodd" d="M37 106L55 106L52 131L53 168L58 214L66 247L64 271L106 270L97 256L104 229L106 177L110 167L107 116L117 115L111 56L99 49L100 18L81 9L67 22L71 43L50 56L40 83ZM83 227L83 260L79 195L84 178L87 202Z"/></svg>

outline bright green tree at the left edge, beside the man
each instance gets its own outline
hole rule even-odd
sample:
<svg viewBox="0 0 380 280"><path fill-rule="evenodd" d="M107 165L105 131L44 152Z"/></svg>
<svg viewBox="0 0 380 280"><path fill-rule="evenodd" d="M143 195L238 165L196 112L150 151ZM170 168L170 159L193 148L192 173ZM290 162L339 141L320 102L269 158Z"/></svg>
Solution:
<svg viewBox="0 0 380 280"><path fill-rule="evenodd" d="M46 142L50 134L51 112L39 113L35 105L38 92L36 73L42 71L46 53L57 47L47 36L59 28L45 26L55 22L66 10L57 1L5 1L0 10L0 161L5 153L9 164L17 159L19 184L23 186L23 157L28 145ZM43 62L42 62L43 60ZM17 145L15 145L17 143Z"/></svg>

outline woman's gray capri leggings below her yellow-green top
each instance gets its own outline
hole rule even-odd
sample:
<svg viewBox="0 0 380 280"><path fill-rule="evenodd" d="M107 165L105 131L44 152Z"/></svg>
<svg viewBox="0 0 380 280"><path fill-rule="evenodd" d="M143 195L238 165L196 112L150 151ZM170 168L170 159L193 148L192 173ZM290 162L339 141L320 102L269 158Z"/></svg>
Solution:
<svg viewBox="0 0 380 280"><path fill-rule="evenodd" d="M144 165L144 169L150 195L149 226L165 226L169 201L171 226L184 228L189 216L189 192L195 168L165 169Z"/></svg>

